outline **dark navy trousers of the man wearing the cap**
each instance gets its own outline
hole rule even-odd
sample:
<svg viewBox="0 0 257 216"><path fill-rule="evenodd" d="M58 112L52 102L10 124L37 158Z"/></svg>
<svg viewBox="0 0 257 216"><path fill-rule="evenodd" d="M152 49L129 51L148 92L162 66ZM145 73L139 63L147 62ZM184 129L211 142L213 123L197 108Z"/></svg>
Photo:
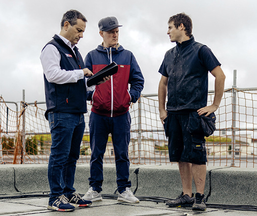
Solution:
<svg viewBox="0 0 257 216"><path fill-rule="evenodd" d="M91 112L89 119L90 147L92 150L90 160L89 184L94 191L102 191L103 183L103 157L106 150L108 136L111 134L115 154L118 192L131 187L130 159L128 158L128 144L130 144L131 116L127 112L117 117L107 117Z"/></svg>

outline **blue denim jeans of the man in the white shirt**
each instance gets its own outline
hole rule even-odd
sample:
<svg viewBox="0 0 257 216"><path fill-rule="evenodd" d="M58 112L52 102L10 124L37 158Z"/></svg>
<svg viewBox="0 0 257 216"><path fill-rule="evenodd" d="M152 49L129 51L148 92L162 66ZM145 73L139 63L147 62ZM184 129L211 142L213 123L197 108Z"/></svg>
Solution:
<svg viewBox="0 0 257 216"><path fill-rule="evenodd" d="M52 137L48 164L49 200L52 201L75 192L74 176L85 122L82 113L49 112L48 119Z"/></svg>

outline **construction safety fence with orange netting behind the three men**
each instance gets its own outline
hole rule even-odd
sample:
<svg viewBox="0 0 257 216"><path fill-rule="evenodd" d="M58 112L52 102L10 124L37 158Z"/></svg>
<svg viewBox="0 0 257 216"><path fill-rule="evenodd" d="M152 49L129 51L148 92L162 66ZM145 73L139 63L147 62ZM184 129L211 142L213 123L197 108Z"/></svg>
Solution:
<svg viewBox="0 0 257 216"><path fill-rule="evenodd" d="M238 89L233 86L224 92L216 113L216 128L206 138L207 165L257 166L257 88ZM214 98L209 91L208 105ZM46 120L45 102L20 104L0 98L0 163L48 163L51 134ZM10 108L11 107L11 108ZM78 163L90 162L88 104L85 131ZM135 164L172 164L169 162L167 139L159 120L157 95L142 95L130 108L132 117L129 156ZM105 163L115 163L111 137L109 137Z"/></svg>

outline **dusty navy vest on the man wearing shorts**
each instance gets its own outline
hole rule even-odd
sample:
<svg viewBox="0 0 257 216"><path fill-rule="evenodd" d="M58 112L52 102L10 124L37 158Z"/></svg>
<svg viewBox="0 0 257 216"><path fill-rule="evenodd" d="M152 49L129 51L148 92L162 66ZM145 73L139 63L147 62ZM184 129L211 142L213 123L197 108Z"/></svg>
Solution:
<svg viewBox="0 0 257 216"><path fill-rule="evenodd" d="M208 69L201 64L198 56L203 46L192 36L167 51L164 58L168 73L167 111L206 106Z"/></svg>

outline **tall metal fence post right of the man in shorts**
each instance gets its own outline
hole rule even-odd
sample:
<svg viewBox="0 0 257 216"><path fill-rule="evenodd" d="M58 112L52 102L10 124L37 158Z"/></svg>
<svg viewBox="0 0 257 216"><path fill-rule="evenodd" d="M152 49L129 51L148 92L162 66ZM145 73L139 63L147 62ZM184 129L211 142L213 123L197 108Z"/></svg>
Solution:
<svg viewBox="0 0 257 216"><path fill-rule="evenodd" d="M236 144L236 70L233 75L232 85L232 143L231 143L231 166L235 165L235 144Z"/></svg>

